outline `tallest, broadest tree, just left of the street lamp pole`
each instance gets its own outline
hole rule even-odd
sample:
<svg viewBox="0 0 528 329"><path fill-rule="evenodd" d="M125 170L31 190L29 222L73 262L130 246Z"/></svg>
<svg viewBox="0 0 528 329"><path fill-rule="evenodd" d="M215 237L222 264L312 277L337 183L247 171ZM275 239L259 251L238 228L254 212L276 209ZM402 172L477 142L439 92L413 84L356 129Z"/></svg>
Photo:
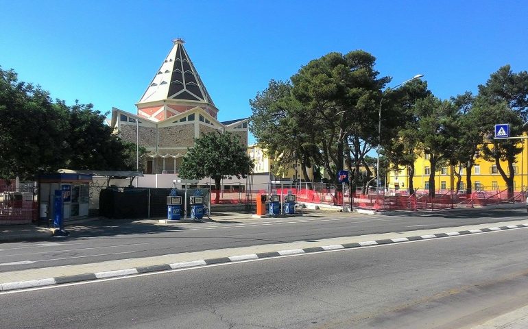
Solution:
<svg viewBox="0 0 528 329"><path fill-rule="evenodd" d="M291 77L292 94L303 109L300 122L319 150L313 154L315 163L336 182L346 160L349 169L354 167L352 188L359 181L364 156L376 145L377 104L389 81L378 78L375 61L361 50L328 53Z"/></svg>

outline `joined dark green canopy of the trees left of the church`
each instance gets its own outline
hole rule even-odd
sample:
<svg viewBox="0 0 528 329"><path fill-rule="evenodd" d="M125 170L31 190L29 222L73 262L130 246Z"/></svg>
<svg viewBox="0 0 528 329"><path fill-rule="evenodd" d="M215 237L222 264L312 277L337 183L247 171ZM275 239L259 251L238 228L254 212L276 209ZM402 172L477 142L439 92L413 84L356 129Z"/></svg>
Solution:
<svg viewBox="0 0 528 329"><path fill-rule="evenodd" d="M57 169L133 170L130 145L91 104L73 106L0 67L0 177L33 178ZM144 149L142 149L144 153Z"/></svg>

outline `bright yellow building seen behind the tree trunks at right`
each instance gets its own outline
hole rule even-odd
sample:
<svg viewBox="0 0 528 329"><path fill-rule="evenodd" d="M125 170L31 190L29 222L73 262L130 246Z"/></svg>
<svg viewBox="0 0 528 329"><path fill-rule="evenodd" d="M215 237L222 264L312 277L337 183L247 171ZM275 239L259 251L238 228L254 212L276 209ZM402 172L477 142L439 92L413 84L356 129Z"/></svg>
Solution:
<svg viewBox="0 0 528 329"><path fill-rule="evenodd" d="M501 162L501 167L509 175L507 162ZM457 176L453 167L437 167L435 173L435 190L455 190ZM458 171L458 169L456 169ZM413 187L419 190L429 189L429 173L431 173L431 163L429 154L418 158L414 162ZM488 162L482 158L475 161L471 169L471 183L474 191L503 191L506 189L506 183L494 162ZM522 191L528 185L528 149L524 145L523 152L518 154L517 161L514 164L514 191ZM391 170L387 177L387 188L389 190L407 190L409 188L408 169L396 171ZM460 191L466 190L466 169L461 170Z"/></svg>

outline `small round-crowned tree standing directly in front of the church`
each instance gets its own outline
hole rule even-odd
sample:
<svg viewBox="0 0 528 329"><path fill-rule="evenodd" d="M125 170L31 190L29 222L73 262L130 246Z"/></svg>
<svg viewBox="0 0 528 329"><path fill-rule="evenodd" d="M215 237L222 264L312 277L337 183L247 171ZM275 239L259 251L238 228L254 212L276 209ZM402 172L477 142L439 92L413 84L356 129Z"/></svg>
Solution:
<svg viewBox="0 0 528 329"><path fill-rule="evenodd" d="M197 138L195 146L188 149L179 175L190 180L211 177L215 181L218 203L221 180L232 177L246 178L252 168L253 162L238 136L230 132L211 132Z"/></svg>

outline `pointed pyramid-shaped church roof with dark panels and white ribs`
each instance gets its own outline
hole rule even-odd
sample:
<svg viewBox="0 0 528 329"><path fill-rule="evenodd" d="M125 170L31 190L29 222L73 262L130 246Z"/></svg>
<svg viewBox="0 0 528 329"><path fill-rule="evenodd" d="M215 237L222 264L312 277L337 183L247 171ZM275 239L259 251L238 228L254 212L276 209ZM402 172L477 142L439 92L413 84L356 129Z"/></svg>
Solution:
<svg viewBox="0 0 528 329"><path fill-rule="evenodd" d="M216 108L198 75L189 54L183 47L184 40L173 40L173 47L150 82L143 96L136 103L172 102L204 103Z"/></svg>

